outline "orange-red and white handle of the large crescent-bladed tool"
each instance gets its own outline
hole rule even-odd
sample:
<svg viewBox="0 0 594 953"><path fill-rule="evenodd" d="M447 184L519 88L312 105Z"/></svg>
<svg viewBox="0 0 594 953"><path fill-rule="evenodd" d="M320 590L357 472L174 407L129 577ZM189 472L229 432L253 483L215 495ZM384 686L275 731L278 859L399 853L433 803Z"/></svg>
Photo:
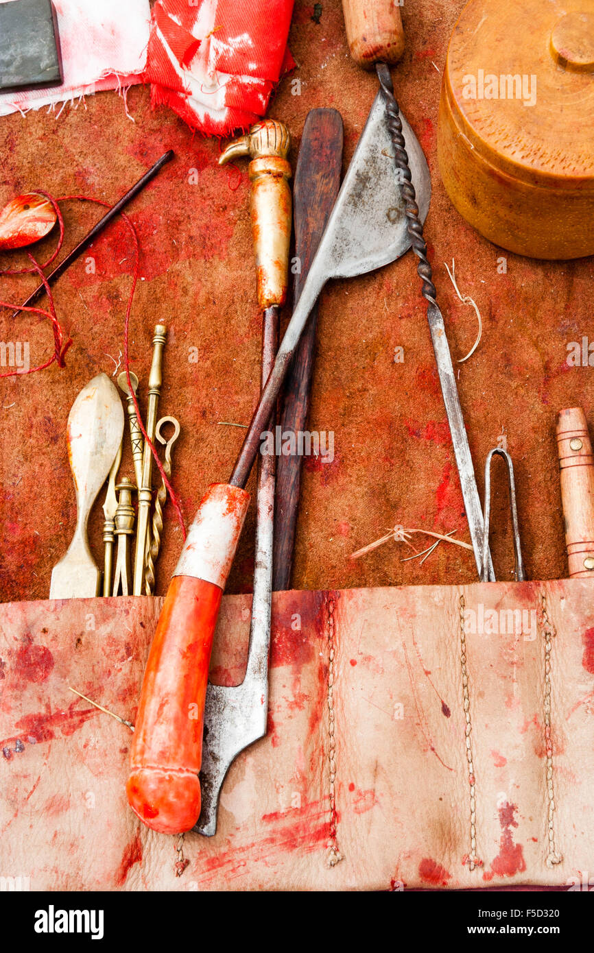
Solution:
<svg viewBox="0 0 594 953"><path fill-rule="evenodd" d="M126 790L135 814L162 834L200 814L204 701L225 581L250 496L209 487L177 563L142 682Z"/></svg>

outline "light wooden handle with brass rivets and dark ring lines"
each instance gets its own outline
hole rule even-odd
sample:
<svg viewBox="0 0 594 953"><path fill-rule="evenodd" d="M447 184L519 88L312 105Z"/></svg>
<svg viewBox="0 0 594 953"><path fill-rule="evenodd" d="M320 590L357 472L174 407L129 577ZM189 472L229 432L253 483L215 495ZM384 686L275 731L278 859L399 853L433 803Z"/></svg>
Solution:
<svg viewBox="0 0 594 953"><path fill-rule="evenodd" d="M570 578L594 578L594 456L581 407L557 417L561 497Z"/></svg>

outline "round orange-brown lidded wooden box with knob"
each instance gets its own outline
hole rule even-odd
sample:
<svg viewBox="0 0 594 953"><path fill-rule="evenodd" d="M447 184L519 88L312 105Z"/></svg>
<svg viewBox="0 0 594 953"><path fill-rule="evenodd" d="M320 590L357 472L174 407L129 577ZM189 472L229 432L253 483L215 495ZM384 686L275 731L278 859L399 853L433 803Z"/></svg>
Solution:
<svg viewBox="0 0 594 953"><path fill-rule="evenodd" d="M594 0L471 0L447 53L438 158L486 238L594 253Z"/></svg>

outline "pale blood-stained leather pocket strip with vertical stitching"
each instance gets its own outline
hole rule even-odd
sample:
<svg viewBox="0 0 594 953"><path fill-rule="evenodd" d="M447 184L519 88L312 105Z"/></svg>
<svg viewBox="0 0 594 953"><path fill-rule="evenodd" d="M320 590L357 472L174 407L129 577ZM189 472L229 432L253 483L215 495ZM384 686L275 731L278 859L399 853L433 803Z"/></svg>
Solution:
<svg viewBox="0 0 594 953"><path fill-rule="evenodd" d="M462 601L463 599L463 601ZM579 882L594 856L589 580L275 596L267 737L218 831L155 834L124 792L161 600L0 606L0 875L31 889ZM242 678L250 597L212 678ZM176 873L181 876L176 876Z"/></svg>

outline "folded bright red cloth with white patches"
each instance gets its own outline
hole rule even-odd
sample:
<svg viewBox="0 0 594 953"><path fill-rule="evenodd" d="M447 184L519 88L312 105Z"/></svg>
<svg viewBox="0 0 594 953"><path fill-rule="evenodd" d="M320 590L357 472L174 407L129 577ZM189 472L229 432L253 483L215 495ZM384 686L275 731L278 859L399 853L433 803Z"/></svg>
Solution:
<svg viewBox="0 0 594 953"><path fill-rule="evenodd" d="M227 135L263 116L283 72L293 0L157 0L145 81L154 106Z"/></svg>

